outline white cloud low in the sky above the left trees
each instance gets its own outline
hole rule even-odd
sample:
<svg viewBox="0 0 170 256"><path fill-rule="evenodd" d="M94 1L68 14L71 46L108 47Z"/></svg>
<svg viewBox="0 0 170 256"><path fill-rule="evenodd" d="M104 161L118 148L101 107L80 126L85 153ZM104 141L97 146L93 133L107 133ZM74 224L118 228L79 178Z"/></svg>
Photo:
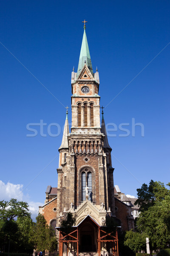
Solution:
<svg viewBox="0 0 170 256"><path fill-rule="evenodd" d="M26 201L29 205L31 218L33 221L35 221L35 218L38 215L38 207L43 204L40 202L30 201L29 196L24 195L22 189L22 184L13 184L10 182L5 184L2 180L0 180L0 201L9 201L11 198L17 199L18 201Z"/></svg>

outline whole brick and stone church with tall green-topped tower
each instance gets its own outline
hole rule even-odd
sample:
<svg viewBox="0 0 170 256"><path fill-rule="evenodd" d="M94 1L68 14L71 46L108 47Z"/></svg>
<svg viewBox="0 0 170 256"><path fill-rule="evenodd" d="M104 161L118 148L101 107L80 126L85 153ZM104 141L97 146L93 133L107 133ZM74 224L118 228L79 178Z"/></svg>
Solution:
<svg viewBox="0 0 170 256"><path fill-rule="evenodd" d="M59 256L118 256L118 236L103 231L106 217L116 220L118 233L134 229L131 206L114 196L112 148L108 143L102 109L100 122L99 73L92 68L85 32L77 72L71 73L71 131L68 111L59 147L58 185L47 187L45 204L39 207L47 223L56 229ZM66 247L60 224L67 212L76 219Z"/></svg>

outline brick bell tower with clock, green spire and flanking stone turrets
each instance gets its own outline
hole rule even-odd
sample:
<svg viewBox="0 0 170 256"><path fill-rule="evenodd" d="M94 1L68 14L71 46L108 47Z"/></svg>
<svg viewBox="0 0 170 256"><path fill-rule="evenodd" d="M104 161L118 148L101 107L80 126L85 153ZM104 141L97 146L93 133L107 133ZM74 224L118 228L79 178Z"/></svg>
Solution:
<svg viewBox="0 0 170 256"><path fill-rule="evenodd" d="M68 211L74 213L76 224L89 214L99 225L107 214L115 216L112 149L103 111L100 124L99 73L92 68L85 29L84 25L77 73L71 73L71 132L66 114L59 148L58 226Z"/></svg>

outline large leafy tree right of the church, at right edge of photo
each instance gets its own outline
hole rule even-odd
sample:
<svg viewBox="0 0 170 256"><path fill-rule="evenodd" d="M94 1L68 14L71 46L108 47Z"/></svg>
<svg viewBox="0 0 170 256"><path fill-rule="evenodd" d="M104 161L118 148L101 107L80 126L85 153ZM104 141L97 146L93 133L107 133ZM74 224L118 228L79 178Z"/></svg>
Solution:
<svg viewBox="0 0 170 256"><path fill-rule="evenodd" d="M167 185L170 186L170 183ZM170 244L170 190L164 183L151 180L149 186L144 183L137 192L136 204L139 204L141 213L135 220L136 233L133 236L144 234L145 238L149 237L151 250L167 248ZM125 243L128 243L129 247L134 246L136 250L140 250L137 238L132 240L131 245L127 232L126 239Z"/></svg>

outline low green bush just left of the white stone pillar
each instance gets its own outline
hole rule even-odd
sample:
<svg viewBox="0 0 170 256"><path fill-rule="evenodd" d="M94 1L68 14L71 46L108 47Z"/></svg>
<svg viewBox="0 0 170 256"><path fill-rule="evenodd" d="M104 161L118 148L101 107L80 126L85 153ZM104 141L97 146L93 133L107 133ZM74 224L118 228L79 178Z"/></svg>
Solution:
<svg viewBox="0 0 170 256"><path fill-rule="evenodd" d="M146 250L146 234L136 233L133 230L126 231L124 245L128 246L134 253Z"/></svg>

